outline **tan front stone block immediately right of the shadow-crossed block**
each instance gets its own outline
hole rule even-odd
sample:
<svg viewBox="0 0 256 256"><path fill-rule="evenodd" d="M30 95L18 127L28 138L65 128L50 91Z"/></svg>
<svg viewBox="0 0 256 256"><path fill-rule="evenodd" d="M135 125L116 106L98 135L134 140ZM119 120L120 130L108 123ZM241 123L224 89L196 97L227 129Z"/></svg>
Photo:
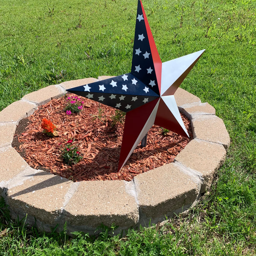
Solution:
<svg viewBox="0 0 256 256"><path fill-rule="evenodd" d="M113 222L131 227L139 219L135 198L126 192L123 180L81 182L63 213L67 224L90 227Z"/></svg>

